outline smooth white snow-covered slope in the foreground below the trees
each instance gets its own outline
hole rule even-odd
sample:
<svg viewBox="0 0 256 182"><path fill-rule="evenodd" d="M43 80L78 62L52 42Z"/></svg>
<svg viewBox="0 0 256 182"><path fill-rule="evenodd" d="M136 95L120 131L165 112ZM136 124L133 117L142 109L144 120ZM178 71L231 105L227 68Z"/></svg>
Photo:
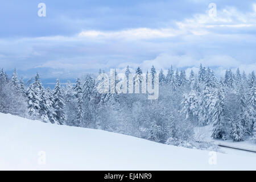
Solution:
<svg viewBox="0 0 256 182"><path fill-rule="evenodd" d="M107 131L59 126L0 113L0 169L253 169L255 156L168 146ZM46 163L38 163L39 152Z"/></svg>

